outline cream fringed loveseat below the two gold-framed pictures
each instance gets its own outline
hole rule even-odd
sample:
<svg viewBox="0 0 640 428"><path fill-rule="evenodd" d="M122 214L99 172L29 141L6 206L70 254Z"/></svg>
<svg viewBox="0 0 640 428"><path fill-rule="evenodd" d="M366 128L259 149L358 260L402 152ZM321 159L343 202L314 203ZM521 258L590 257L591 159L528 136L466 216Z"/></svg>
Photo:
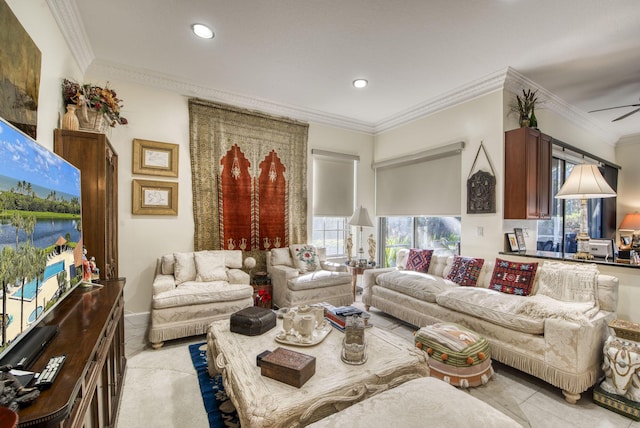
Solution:
<svg viewBox="0 0 640 428"><path fill-rule="evenodd" d="M212 321L253 305L242 251L211 250L159 257L153 280L149 341L205 334Z"/></svg>

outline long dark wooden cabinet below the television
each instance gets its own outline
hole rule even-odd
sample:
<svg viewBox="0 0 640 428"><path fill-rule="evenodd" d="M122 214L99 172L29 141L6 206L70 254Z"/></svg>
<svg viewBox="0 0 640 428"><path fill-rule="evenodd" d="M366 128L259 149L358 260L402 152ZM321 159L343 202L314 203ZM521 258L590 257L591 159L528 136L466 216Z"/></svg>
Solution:
<svg viewBox="0 0 640 428"><path fill-rule="evenodd" d="M59 332L30 370L41 371L55 355L67 358L51 388L18 411L20 427L115 426L127 363L124 284L77 287L42 321Z"/></svg>

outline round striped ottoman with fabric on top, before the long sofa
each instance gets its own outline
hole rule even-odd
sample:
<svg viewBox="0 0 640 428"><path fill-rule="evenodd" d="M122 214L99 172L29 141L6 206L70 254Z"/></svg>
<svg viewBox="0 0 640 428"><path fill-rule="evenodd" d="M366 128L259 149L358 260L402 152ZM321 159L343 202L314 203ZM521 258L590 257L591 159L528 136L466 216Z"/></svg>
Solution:
<svg viewBox="0 0 640 428"><path fill-rule="evenodd" d="M493 375L487 339L458 324L423 327L416 332L415 343L429 354L431 376L451 385L484 385Z"/></svg>

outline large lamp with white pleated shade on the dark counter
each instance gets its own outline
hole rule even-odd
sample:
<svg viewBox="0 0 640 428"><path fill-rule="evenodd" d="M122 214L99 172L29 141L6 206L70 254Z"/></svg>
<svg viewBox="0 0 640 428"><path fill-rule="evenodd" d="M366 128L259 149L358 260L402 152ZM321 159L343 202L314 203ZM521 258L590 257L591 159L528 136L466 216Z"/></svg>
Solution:
<svg viewBox="0 0 640 428"><path fill-rule="evenodd" d="M587 199L612 198L616 192L607 184L597 165L581 164L573 167L569 178L556 195L558 199L580 199L580 233L578 250L574 258L590 260L589 223L587 221Z"/></svg>

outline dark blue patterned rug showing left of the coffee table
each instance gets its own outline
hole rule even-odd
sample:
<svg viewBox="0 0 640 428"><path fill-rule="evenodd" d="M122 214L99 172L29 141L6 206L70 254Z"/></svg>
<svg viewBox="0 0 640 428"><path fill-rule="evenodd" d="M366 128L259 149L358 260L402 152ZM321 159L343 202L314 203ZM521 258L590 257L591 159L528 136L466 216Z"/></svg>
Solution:
<svg viewBox="0 0 640 428"><path fill-rule="evenodd" d="M191 361L198 373L198 383L210 428L240 427L238 413L224 392L222 376L210 377L207 372L207 344L189 345Z"/></svg>

